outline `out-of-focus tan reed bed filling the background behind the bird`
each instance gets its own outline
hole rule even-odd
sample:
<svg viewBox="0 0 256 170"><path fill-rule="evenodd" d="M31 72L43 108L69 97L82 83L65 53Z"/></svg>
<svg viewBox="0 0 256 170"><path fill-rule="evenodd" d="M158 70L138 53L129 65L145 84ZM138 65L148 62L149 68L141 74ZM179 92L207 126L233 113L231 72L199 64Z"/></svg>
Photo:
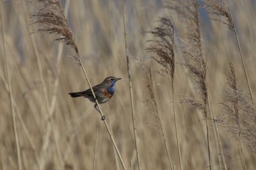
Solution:
<svg viewBox="0 0 256 170"><path fill-rule="evenodd" d="M67 1L61 3L65 8ZM177 14L176 10L163 8L165 4L166 2L157 0L125 1L129 57L141 56L154 70L163 69L150 59L150 56L155 54L145 51L150 45L145 43L146 40L155 38L151 34L145 34L144 30L157 26L158 23L154 20L159 17L171 18L174 25L176 62L174 96L175 99L183 98L181 95L198 99L199 95L193 89L193 80L187 74L188 70L177 64L189 62L177 49L182 44L178 38L190 43L186 38L186 18ZM229 4L255 98L256 59L251 57L256 54L256 3L250 0L233 0ZM31 30L39 27L29 25L28 11L33 9L31 4L2 1L1 6L3 20L0 29L5 28L6 55L22 169L92 169L97 128L99 134L95 169L122 169L104 123L100 120L100 114L93 107L94 104L87 99L72 99L68 95L68 92L89 88L81 67L67 56L75 55L75 51L64 46L58 60L59 44L51 40L59 35L28 35ZM132 169L138 169L126 69L122 1L70 1L66 9L68 23L76 38L82 63L92 86L100 84L107 76L122 78L116 84L115 95L109 102L101 105L101 109L126 168L131 169L132 165ZM209 102L214 116L221 117L220 114L224 110L218 102L227 102L225 73L230 72L228 61L234 64L238 86L242 86L246 92L249 90L234 33L227 25L209 20L209 17L218 18L208 16L205 9L199 8L201 37L206 37L210 45L206 73ZM225 20L223 17L219 18ZM18 169L2 36L0 34L0 169ZM38 65L42 67L42 78L38 72ZM137 61L131 57L130 66L141 169L170 169L161 133L142 123L157 123L154 116L147 114L148 108L144 104L150 97L145 87L144 73ZM154 72L152 79L171 163L174 169L180 169L171 104L171 79ZM179 104L177 101L175 109L183 169L209 169L206 168L209 163L204 115L190 105ZM210 114L208 117L213 119ZM50 126L51 121L53 126ZM239 142L234 135L219 127L219 142L213 121L208 120L208 126L212 169L243 169ZM247 169L255 169L254 153L244 142L242 140L245 165ZM220 147L223 152L220 151ZM221 154L224 155L225 162L229 163L222 164Z"/></svg>

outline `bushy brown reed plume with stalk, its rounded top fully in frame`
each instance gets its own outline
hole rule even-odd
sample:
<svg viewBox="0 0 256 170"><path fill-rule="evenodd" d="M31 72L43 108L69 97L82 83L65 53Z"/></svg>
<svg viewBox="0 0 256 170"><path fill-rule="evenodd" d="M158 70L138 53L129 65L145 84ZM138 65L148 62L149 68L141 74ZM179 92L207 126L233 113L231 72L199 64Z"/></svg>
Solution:
<svg viewBox="0 0 256 170"><path fill-rule="evenodd" d="M164 73L171 76L171 86L173 90L173 100L174 100L174 69L175 69L175 58L174 58L174 28L171 23L171 19L166 17L160 17L157 22L160 22L159 27L154 27L152 30L146 31L158 38L158 40L147 40L147 42L154 42L154 45L150 45L149 48L146 48L147 52L153 52L156 56L151 56L158 64L164 67ZM179 152L179 161L180 168L181 166L181 156L180 156L180 146L178 140L178 132L176 125L176 116L175 116L175 106L173 102L173 111L174 111L174 121L175 121L175 132L176 132L176 141L178 145Z"/></svg>

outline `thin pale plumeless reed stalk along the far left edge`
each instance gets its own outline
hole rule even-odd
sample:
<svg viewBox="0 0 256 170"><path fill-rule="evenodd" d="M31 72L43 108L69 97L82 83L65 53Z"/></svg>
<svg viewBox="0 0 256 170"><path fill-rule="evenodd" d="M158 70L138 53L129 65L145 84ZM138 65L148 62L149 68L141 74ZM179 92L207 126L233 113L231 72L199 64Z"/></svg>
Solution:
<svg viewBox="0 0 256 170"><path fill-rule="evenodd" d="M13 122L13 131L15 136L15 145L16 145L16 151L17 151L17 161L18 161L18 169L21 170L21 153L19 148L19 139L18 139L18 133L16 128L16 119L15 119L15 112L13 107L13 96L12 96L12 86L11 86L11 80L9 76L9 65L8 65L8 57L6 53L6 39L5 39L5 30L4 30L4 20L3 20L3 5L2 1L0 1L0 10L1 10L1 20L2 20L2 34L3 34L3 49L4 49L4 57L6 59L6 72L7 72L7 80L8 80L8 87L9 87L9 98L11 102L11 109L12 109L12 122Z"/></svg>

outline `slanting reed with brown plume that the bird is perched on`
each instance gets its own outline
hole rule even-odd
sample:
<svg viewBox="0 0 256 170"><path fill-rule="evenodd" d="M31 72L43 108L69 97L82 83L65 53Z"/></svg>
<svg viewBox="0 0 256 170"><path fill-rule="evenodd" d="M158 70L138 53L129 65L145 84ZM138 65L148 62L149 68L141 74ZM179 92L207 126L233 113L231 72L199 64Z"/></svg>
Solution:
<svg viewBox="0 0 256 170"><path fill-rule="evenodd" d="M83 64L80 59L80 55L78 53L78 48L75 42L75 38L73 37L73 33L70 30L70 27L67 23L67 19L65 17L65 12L61 6L60 0L48 0L48 1L42 1L42 0L23 0L25 2L34 4L36 6L36 9L32 10L32 13L30 14L30 17L33 19L31 21L32 24L40 24L41 28L38 28L31 32L30 34L38 33L38 32L47 32L47 33L55 33L57 35L61 35L60 38L53 39L68 45L70 48L75 49L76 55L74 58L78 61L78 64L82 67L83 73L85 74L86 80L88 85L90 86L90 89L92 91L93 97L96 99L96 96L92 90L92 86L90 84L90 81L88 80L85 68L83 67ZM101 116L103 116L101 108L99 106L99 102L97 99L95 100L96 104L99 108L99 112ZM122 163L122 167L125 168L124 161L122 161L121 154L116 146L114 137L112 136L112 133L110 132L109 126L107 125L107 122L104 120L105 126L107 128L107 131L109 132L110 138L112 140L112 143L116 149L116 152L120 158L120 161Z"/></svg>

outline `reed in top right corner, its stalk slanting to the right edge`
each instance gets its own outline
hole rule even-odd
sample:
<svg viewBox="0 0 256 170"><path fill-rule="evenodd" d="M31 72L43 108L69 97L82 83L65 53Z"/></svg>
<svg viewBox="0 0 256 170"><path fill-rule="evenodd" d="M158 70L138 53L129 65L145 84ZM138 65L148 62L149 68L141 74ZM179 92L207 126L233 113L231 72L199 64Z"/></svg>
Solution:
<svg viewBox="0 0 256 170"><path fill-rule="evenodd" d="M206 9L208 9L208 13L227 18L226 22L224 22L220 19L213 19L213 20L218 20L219 22L222 22L222 23L228 25L229 29L235 33L235 37L237 38L237 43L238 43L238 47L239 47L239 51L240 51L240 56L241 56L242 63L243 63L244 73L245 73L248 88L250 91L250 97L251 97L253 105L254 105L252 89L250 88L250 82L249 82L247 70L246 70L245 64L244 64L244 59L243 59L243 54L242 54L239 39L238 39L237 29L235 28L235 23L233 21L233 17L232 17L231 11L230 11L229 2L228 2L228 0L203 0L203 2L205 2L205 3L204 4L198 3L198 5L200 7L204 7Z"/></svg>

